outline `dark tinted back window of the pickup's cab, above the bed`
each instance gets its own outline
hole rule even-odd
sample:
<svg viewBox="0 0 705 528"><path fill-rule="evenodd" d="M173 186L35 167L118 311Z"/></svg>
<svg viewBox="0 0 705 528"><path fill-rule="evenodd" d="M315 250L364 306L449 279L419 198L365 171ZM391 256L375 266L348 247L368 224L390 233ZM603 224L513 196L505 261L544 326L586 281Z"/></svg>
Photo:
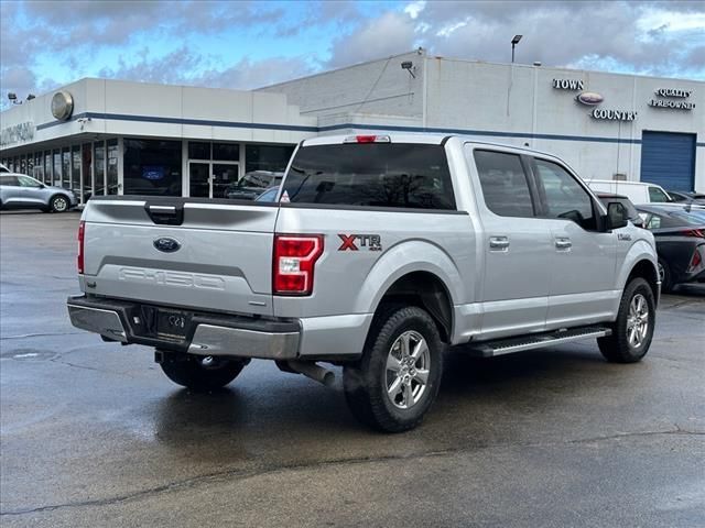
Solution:
<svg viewBox="0 0 705 528"><path fill-rule="evenodd" d="M300 148L282 201L412 209L455 209L441 145L366 143Z"/></svg>

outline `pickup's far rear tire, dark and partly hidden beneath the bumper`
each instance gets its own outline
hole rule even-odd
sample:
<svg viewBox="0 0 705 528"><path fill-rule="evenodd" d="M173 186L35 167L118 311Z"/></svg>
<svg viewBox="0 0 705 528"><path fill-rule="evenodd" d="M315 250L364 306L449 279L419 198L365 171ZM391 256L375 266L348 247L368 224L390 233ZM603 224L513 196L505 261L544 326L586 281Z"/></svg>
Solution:
<svg viewBox="0 0 705 528"><path fill-rule="evenodd" d="M242 372L246 360L213 358L210 366L204 365L202 356L164 353L162 371L176 385L198 392L225 387Z"/></svg>

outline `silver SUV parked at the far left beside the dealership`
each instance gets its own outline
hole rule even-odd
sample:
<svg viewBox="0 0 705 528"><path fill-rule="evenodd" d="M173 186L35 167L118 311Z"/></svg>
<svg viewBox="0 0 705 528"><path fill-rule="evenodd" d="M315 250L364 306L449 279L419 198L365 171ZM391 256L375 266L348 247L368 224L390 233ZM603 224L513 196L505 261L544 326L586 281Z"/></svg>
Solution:
<svg viewBox="0 0 705 528"><path fill-rule="evenodd" d="M44 185L24 174L0 175L0 209L36 208L46 212L65 212L77 205L78 198L72 190Z"/></svg>

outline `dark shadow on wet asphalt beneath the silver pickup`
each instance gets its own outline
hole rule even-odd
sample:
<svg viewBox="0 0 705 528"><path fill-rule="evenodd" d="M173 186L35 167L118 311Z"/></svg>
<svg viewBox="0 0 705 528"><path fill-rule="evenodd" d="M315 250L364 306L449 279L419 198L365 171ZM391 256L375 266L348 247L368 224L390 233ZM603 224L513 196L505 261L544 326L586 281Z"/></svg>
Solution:
<svg viewBox="0 0 705 528"><path fill-rule="evenodd" d="M448 449L455 442L481 444L497 441L498 431L520 427L528 416L550 414L563 405L563 394L594 392L592 380L605 377L595 371L605 371L607 364L590 349L543 349L489 360L451 352L436 405L424 426L404 435L379 433L352 417L339 369L333 388L303 376L262 376L260 370L241 385L237 380L232 388L175 391L150 413L161 444L200 462L245 461L260 450L282 458L296 452L314 457L314 451L315 457L360 457L370 449L413 452Z"/></svg>

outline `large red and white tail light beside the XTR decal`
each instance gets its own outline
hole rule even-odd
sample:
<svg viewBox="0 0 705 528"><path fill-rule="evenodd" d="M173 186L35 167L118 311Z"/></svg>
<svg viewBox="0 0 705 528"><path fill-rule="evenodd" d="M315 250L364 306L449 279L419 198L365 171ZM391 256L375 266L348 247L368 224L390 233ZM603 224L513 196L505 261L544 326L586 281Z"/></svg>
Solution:
<svg viewBox="0 0 705 528"><path fill-rule="evenodd" d="M272 293L311 295L314 267L322 254L322 234L275 234Z"/></svg>

